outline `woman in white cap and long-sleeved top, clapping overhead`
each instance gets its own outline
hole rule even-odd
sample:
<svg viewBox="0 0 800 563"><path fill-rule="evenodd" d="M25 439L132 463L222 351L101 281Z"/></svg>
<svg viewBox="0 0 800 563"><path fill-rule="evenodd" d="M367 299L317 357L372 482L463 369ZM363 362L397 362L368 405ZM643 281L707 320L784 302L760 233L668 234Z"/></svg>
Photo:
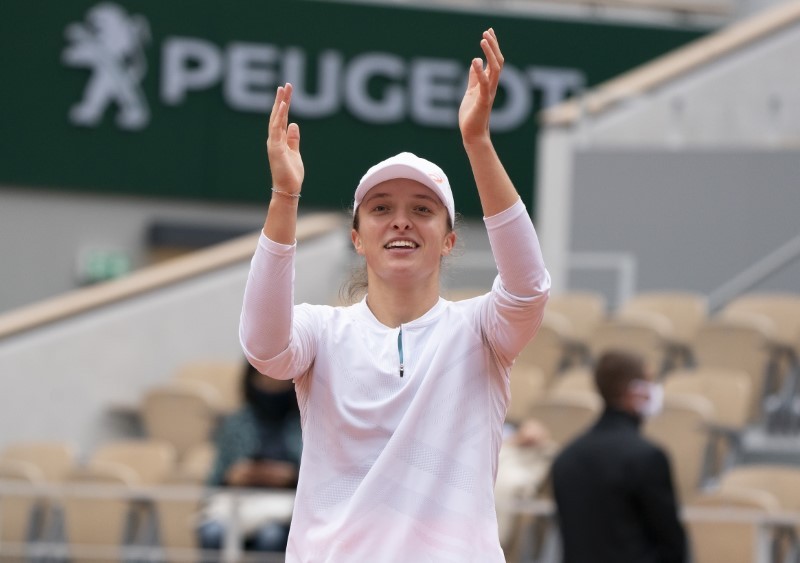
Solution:
<svg viewBox="0 0 800 563"><path fill-rule="evenodd" d="M503 57L493 30L474 59L459 128L499 275L486 295L440 297L455 244L444 172L410 153L355 191L353 245L367 294L293 305L300 130L278 88L267 152L272 199L245 290L240 339L262 373L294 379L303 457L288 562L505 559L493 487L514 358L535 334L550 278L524 204L491 142Z"/></svg>

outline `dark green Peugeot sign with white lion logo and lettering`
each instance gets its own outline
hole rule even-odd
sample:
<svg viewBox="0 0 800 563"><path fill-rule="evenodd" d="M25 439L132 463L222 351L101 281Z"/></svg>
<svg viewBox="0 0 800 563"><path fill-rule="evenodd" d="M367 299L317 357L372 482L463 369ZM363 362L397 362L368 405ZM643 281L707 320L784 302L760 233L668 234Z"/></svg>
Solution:
<svg viewBox="0 0 800 563"><path fill-rule="evenodd" d="M344 209L366 169L410 150L439 163L457 208L480 208L457 110L481 32L506 56L494 139L532 203L544 105L699 36L332 2L4 0L0 183L266 201L275 88L295 85L303 204Z"/></svg>

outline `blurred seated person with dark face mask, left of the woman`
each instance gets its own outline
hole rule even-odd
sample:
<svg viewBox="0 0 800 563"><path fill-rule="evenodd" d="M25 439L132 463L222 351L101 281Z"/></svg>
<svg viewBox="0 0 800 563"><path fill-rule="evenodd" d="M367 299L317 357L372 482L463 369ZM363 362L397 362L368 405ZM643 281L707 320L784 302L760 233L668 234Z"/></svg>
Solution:
<svg viewBox="0 0 800 563"><path fill-rule="evenodd" d="M242 378L244 406L228 415L215 436L211 487L294 489L302 451L300 411L292 380L273 379L249 363ZM247 551L285 551L291 497L248 495L239 502ZM231 513L229 495L209 499L197 529L200 547L219 550Z"/></svg>

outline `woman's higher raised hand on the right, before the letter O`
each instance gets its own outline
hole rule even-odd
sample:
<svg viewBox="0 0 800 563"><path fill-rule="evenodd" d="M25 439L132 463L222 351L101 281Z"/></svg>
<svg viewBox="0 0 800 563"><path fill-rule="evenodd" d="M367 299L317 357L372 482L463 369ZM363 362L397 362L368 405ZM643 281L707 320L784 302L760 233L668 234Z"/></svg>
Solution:
<svg viewBox="0 0 800 563"><path fill-rule="evenodd" d="M503 70L503 54L492 28L483 32L481 49L486 56L486 68L481 59L472 60L467 91L458 110L458 126L465 144L488 139L489 116Z"/></svg>

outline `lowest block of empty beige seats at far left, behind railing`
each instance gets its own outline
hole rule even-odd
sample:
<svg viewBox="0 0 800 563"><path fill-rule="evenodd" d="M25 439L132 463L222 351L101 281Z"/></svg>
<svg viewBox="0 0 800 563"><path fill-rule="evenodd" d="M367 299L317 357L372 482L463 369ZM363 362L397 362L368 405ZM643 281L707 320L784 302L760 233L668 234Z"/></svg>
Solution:
<svg viewBox="0 0 800 563"><path fill-rule="evenodd" d="M78 463L67 444L12 444L0 452L0 484L5 487L0 545L69 546L73 562L117 560L97 550L152 544L155 538L162 546L193 548L192 519L213 455L206 443L179 462L167 442L126 440L100 446ZM184 493L162 498L147 492L166 486L183 486Z"/></svg>

